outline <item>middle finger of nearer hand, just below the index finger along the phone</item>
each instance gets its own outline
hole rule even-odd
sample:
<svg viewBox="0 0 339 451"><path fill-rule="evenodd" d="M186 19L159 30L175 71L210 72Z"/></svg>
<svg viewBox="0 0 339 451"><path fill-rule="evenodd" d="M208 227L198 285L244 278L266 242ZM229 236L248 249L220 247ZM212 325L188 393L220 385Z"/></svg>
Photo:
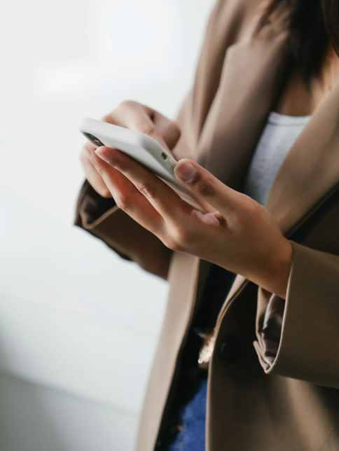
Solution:
<svg viewBox="0 0 339 451"><path fill-rule="evenodd" d="M102 176L118 207L144 228L155 235L159 235L163 229L163 219L146 197L139 193L139 190L135 188L133 183L121 172L95 155L94 152L91 162L100 176Z"/></svg>

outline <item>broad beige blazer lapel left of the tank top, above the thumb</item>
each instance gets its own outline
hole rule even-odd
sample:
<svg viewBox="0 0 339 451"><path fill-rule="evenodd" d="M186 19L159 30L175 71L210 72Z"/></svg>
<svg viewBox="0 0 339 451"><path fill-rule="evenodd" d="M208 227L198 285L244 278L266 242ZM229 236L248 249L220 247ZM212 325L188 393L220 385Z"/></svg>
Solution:
<svg viewBox="0 0 339 451"><path fill-rule="evenodd" d="M251 27L254 28L253 26ZM198 162L240 189L259 137L289 68L288 34L266 25L230 46L219 89L198 143Z"/></svg>

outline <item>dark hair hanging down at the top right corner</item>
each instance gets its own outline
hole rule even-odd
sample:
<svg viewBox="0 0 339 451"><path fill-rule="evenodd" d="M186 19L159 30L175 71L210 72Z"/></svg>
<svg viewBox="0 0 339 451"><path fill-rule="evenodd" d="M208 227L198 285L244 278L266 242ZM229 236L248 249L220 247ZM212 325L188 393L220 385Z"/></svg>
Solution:
<svg viewBox="0 0 339 451"><path fill-rule="evenodd" d="M282 12L289 16L294 64L310 83L321 71L330 41L339 53L339 0L271 0L261 27Z"/></svg>

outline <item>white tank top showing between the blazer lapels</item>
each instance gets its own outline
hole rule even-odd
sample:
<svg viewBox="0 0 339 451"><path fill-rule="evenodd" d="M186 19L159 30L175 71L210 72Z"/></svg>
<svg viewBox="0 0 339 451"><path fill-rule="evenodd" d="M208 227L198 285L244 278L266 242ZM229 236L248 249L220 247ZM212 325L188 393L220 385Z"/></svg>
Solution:
<svg viewBox="0 0 339 451"><path fill-rule="evenodd" d="M311 116L270 113L244 181L244 193L265 204L277 172Z"/></svg>

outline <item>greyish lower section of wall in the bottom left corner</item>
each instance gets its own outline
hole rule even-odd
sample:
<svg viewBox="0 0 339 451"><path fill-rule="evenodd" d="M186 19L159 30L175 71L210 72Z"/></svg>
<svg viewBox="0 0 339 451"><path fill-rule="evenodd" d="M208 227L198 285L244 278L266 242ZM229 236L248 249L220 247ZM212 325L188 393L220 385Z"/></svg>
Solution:
<svg viewBox="0 0 339 451"><path fill-rule="evenodd" d="M1 451L132 450L137 416L0 373Z"/></svg>

